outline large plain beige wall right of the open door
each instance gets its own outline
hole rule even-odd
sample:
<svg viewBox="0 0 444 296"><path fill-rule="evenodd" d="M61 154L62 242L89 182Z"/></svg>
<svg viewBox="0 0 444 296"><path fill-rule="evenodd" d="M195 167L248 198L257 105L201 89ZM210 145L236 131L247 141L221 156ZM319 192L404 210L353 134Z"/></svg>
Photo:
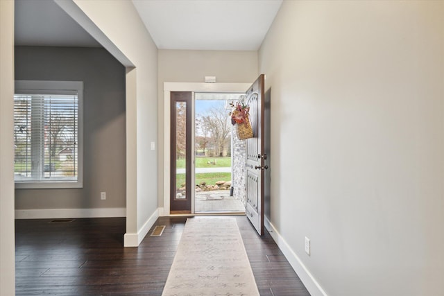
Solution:
<svg viewBox="0 0 444 296"><path fill-rule="evenodd" d="M284 1L259 49L271 223L327 295L443 295L443 15Z"/></svg>

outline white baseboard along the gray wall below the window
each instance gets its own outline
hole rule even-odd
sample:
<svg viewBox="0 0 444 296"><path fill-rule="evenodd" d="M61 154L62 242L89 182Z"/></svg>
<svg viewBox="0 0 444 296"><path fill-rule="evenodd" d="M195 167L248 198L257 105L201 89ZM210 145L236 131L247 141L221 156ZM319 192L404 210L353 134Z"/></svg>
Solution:
<svg viewBox="0 0 444 296"><path fill-rule="evenodd" d="M94 209L16 209L16 219L110 218L126 217L126 208Z"/></svg>

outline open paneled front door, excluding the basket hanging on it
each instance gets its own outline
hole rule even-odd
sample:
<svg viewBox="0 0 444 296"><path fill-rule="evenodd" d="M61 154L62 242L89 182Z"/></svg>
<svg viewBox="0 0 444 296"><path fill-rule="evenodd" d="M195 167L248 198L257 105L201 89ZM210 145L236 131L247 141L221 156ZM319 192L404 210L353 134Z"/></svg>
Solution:
<svg viewBox="0 0 444 296"><path fill-rule="evenodd" d="M259 235L264 234L264 171L268 169L264 153L264 83L262 74L246 92L250 106L253 138L247 139L246 150L246 216Z"/></svg>

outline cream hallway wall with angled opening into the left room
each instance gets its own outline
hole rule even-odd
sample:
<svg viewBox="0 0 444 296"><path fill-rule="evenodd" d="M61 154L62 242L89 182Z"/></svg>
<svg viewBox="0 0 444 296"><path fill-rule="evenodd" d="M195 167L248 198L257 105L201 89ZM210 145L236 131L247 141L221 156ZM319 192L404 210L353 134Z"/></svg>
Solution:
<svg viewBox="0 0 444 296"><path fill-rule="evenodd" d="M157 47L131 1L57 3L127 67L125 244L137 245L157 216Z"/></svg>

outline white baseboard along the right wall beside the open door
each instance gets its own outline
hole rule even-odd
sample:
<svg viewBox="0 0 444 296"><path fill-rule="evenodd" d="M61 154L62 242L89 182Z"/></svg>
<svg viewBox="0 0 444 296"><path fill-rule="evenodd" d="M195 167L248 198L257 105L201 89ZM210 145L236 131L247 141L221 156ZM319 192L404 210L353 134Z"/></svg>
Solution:
<svg viewBox="0 0 444 296"><path fill-rule="evenodd" d="M271 224L270 220L268 220L268 218L266 217L264 224L271 237L273 237L275 243L278 245L282 253L284 253L284 256L289 261L293 270L298 274L298 277L305 285L305 288L307 288L311 296L327 296L327 293L325 293L318 281L316 281L313 275L311 275L304 263L300 261L298 255L296 255L296 253L291 250L291 247L289 246L287 241L284 240L284 238L275 229L273 224Z"/></svg>

